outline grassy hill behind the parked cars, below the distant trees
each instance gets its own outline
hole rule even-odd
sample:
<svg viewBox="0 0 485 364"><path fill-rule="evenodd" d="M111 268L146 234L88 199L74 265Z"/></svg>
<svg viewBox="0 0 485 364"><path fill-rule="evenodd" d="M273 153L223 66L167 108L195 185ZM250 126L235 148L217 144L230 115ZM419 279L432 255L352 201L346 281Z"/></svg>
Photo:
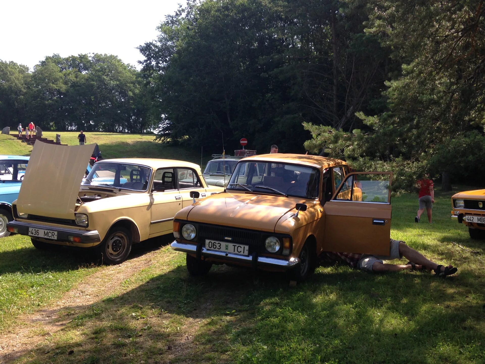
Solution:
<svg viewBox="0 0 485 364"><path fill-rule="evenodd" d="M55 140L61 134L61 141L67 145L78 145L79 132L43 132L43 136ZM110 132L86 133L87 144L97 143L103 158L166 158L200 164L200 152L184 146L170 146L154 140L154 135L118 134ZM0 134L0 154L30 155L32 146L16 138ZM210 156L204 158L206 163Z"/></svg>

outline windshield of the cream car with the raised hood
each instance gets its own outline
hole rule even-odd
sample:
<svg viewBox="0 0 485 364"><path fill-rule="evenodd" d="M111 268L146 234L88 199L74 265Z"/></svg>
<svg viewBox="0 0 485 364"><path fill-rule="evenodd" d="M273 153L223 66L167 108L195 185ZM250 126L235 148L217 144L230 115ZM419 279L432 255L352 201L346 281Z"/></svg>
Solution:
<svg viewBox="0 0 485 364"><path fill-rule="evenodd" d="M151 168L125 163L97 162L82 185L108 186L146 191Z"/></svg>

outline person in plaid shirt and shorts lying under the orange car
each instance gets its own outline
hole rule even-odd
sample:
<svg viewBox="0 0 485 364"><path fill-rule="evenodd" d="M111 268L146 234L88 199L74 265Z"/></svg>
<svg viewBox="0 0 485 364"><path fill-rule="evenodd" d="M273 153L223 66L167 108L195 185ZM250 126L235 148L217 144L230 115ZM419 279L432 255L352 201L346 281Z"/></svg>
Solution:
<svg viewBox="0 0 485 364"><path fill-rule="evenodd" d="M381 273L398 270L433 270L436 276L449 276L457 272L458 268L453 265L443 266L426 259L420 252L409 248L404 241L390 239L389 255L370 255L355 253L325 252L323 261L327 263L344 262L352 267ZM405 265L386 264L384 260L409 259Z"/></svg>

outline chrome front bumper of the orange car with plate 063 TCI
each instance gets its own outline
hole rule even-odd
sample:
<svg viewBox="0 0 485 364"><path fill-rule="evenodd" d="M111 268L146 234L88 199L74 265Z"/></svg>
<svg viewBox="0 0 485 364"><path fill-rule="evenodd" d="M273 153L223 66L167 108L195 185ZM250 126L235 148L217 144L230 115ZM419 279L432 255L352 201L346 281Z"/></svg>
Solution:
<svg viewBox="0 0 485 364"><path fill-rule="evenodd" d="M186 243L179 243L177 240L170 244L170 247L175 251L182 251L184 253L195 254L202 257L208 258L218 258L227 263L243 263L247 265L256 265L257 267L275 267L280 269L291 269L295 265L300 263L299 258L290 258L289 260L285 259L276 259L276 258L269 258L269 257L260 257L257 254L253 253L253 255L245 256L239 255L234 253L225 253L223 251L217 250L208 250L202 247L202 244L186 244ZM200 252L197 252L197 249L200 249Z"/></svg>

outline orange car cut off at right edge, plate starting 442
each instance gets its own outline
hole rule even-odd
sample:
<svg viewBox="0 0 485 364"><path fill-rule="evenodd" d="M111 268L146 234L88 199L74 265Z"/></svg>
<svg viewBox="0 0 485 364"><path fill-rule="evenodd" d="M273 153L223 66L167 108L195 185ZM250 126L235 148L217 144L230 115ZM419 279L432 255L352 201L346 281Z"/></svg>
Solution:
<svg viewBox="0 0 485 364"><path fill-rule="evenodd" d="M452 208L452 218L468 227L472 239L485 239L485 190L454 194Z"/></svg>

